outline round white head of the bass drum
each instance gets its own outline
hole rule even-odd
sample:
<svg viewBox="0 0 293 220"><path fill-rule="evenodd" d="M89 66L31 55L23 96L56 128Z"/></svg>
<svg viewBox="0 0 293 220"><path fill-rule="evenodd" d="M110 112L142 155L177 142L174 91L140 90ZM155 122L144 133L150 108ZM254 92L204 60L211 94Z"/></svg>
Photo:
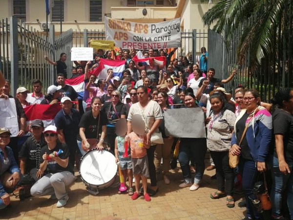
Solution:
<svg viewBox="0 0 293 220"><path fill-rule="evenodd" d="M115 156L105 150L87 152L80 164L80 174L86 183L104 185L117 174Z"/></svg>

